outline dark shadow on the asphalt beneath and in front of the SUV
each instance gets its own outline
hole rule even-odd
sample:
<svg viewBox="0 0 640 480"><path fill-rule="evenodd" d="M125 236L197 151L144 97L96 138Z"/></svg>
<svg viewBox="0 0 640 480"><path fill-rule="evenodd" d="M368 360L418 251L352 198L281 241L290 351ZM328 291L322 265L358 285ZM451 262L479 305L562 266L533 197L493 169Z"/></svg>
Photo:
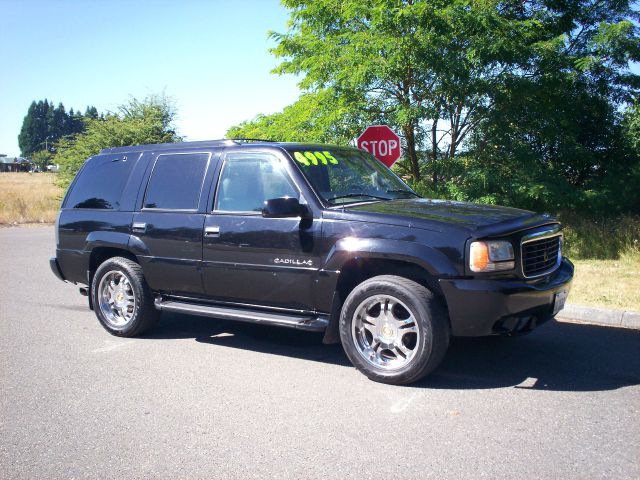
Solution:
<svg viewBox="0 0 640 480"><path fill-rule="evenodd" d="M197 342L348 366L322 334L163 313L146 338ZM614 390L640 384L640 331L551 321L523 337L453 338L440 367L409 388Z"/></svg>

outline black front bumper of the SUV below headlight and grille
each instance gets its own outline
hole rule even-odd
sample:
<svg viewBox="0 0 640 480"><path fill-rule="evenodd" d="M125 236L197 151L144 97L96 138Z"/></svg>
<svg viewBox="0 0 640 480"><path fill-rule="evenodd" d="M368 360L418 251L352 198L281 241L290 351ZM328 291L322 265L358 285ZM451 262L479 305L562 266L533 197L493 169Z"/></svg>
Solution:
<svg viewBox="0 0 640 480"><path fill-rule="evenodd" d="M564 258L542 280L441 279L451 333L476 337L525 333L553 317L556 294L568 292L573 264Z"/></svg>

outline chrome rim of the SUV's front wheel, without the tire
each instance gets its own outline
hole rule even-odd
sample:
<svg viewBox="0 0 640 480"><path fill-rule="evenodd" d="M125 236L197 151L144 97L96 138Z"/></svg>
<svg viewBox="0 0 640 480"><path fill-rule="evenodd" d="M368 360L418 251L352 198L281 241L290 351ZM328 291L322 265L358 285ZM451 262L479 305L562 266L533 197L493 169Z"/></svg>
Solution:
<svg viewBox="0 0 640 480"><path fill-rule="evenodd" d="M420 344L415 315L391 295L376 295L360 303L354 313L351 333L360 356L384 370L407 366Z"/></svg>

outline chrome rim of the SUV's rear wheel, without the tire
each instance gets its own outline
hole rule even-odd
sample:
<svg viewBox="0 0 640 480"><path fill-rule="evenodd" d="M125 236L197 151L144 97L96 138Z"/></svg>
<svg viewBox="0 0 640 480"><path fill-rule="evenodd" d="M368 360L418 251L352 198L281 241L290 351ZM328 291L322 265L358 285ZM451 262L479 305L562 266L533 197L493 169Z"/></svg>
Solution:
<svg viewBox="0 0 640 480"><path fill-rule="evenodd" d="M136 297L129 278L119 270L107 272L98 285L98 304L109 326L126 327L136 311Z"/></svg>

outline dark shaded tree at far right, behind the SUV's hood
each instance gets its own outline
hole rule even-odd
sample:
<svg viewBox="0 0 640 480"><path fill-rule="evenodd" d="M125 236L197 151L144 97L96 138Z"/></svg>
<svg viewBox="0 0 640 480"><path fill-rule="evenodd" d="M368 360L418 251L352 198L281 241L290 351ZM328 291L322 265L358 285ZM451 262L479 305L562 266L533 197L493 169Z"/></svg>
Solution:
<svg viewBox="0 0 640 480"><path fill-rule="evenodd" d="M628 2L606 1L540 13L550 39L533 46L525 71L491 92L492 108L471 135L476 171L492 175L488 184L476 178L498 201L533 209L629 208L635 200L622 194L622 179L633 160L620 111L640 85L629 71L640 55L630 21L637 13Z"/></svg>

